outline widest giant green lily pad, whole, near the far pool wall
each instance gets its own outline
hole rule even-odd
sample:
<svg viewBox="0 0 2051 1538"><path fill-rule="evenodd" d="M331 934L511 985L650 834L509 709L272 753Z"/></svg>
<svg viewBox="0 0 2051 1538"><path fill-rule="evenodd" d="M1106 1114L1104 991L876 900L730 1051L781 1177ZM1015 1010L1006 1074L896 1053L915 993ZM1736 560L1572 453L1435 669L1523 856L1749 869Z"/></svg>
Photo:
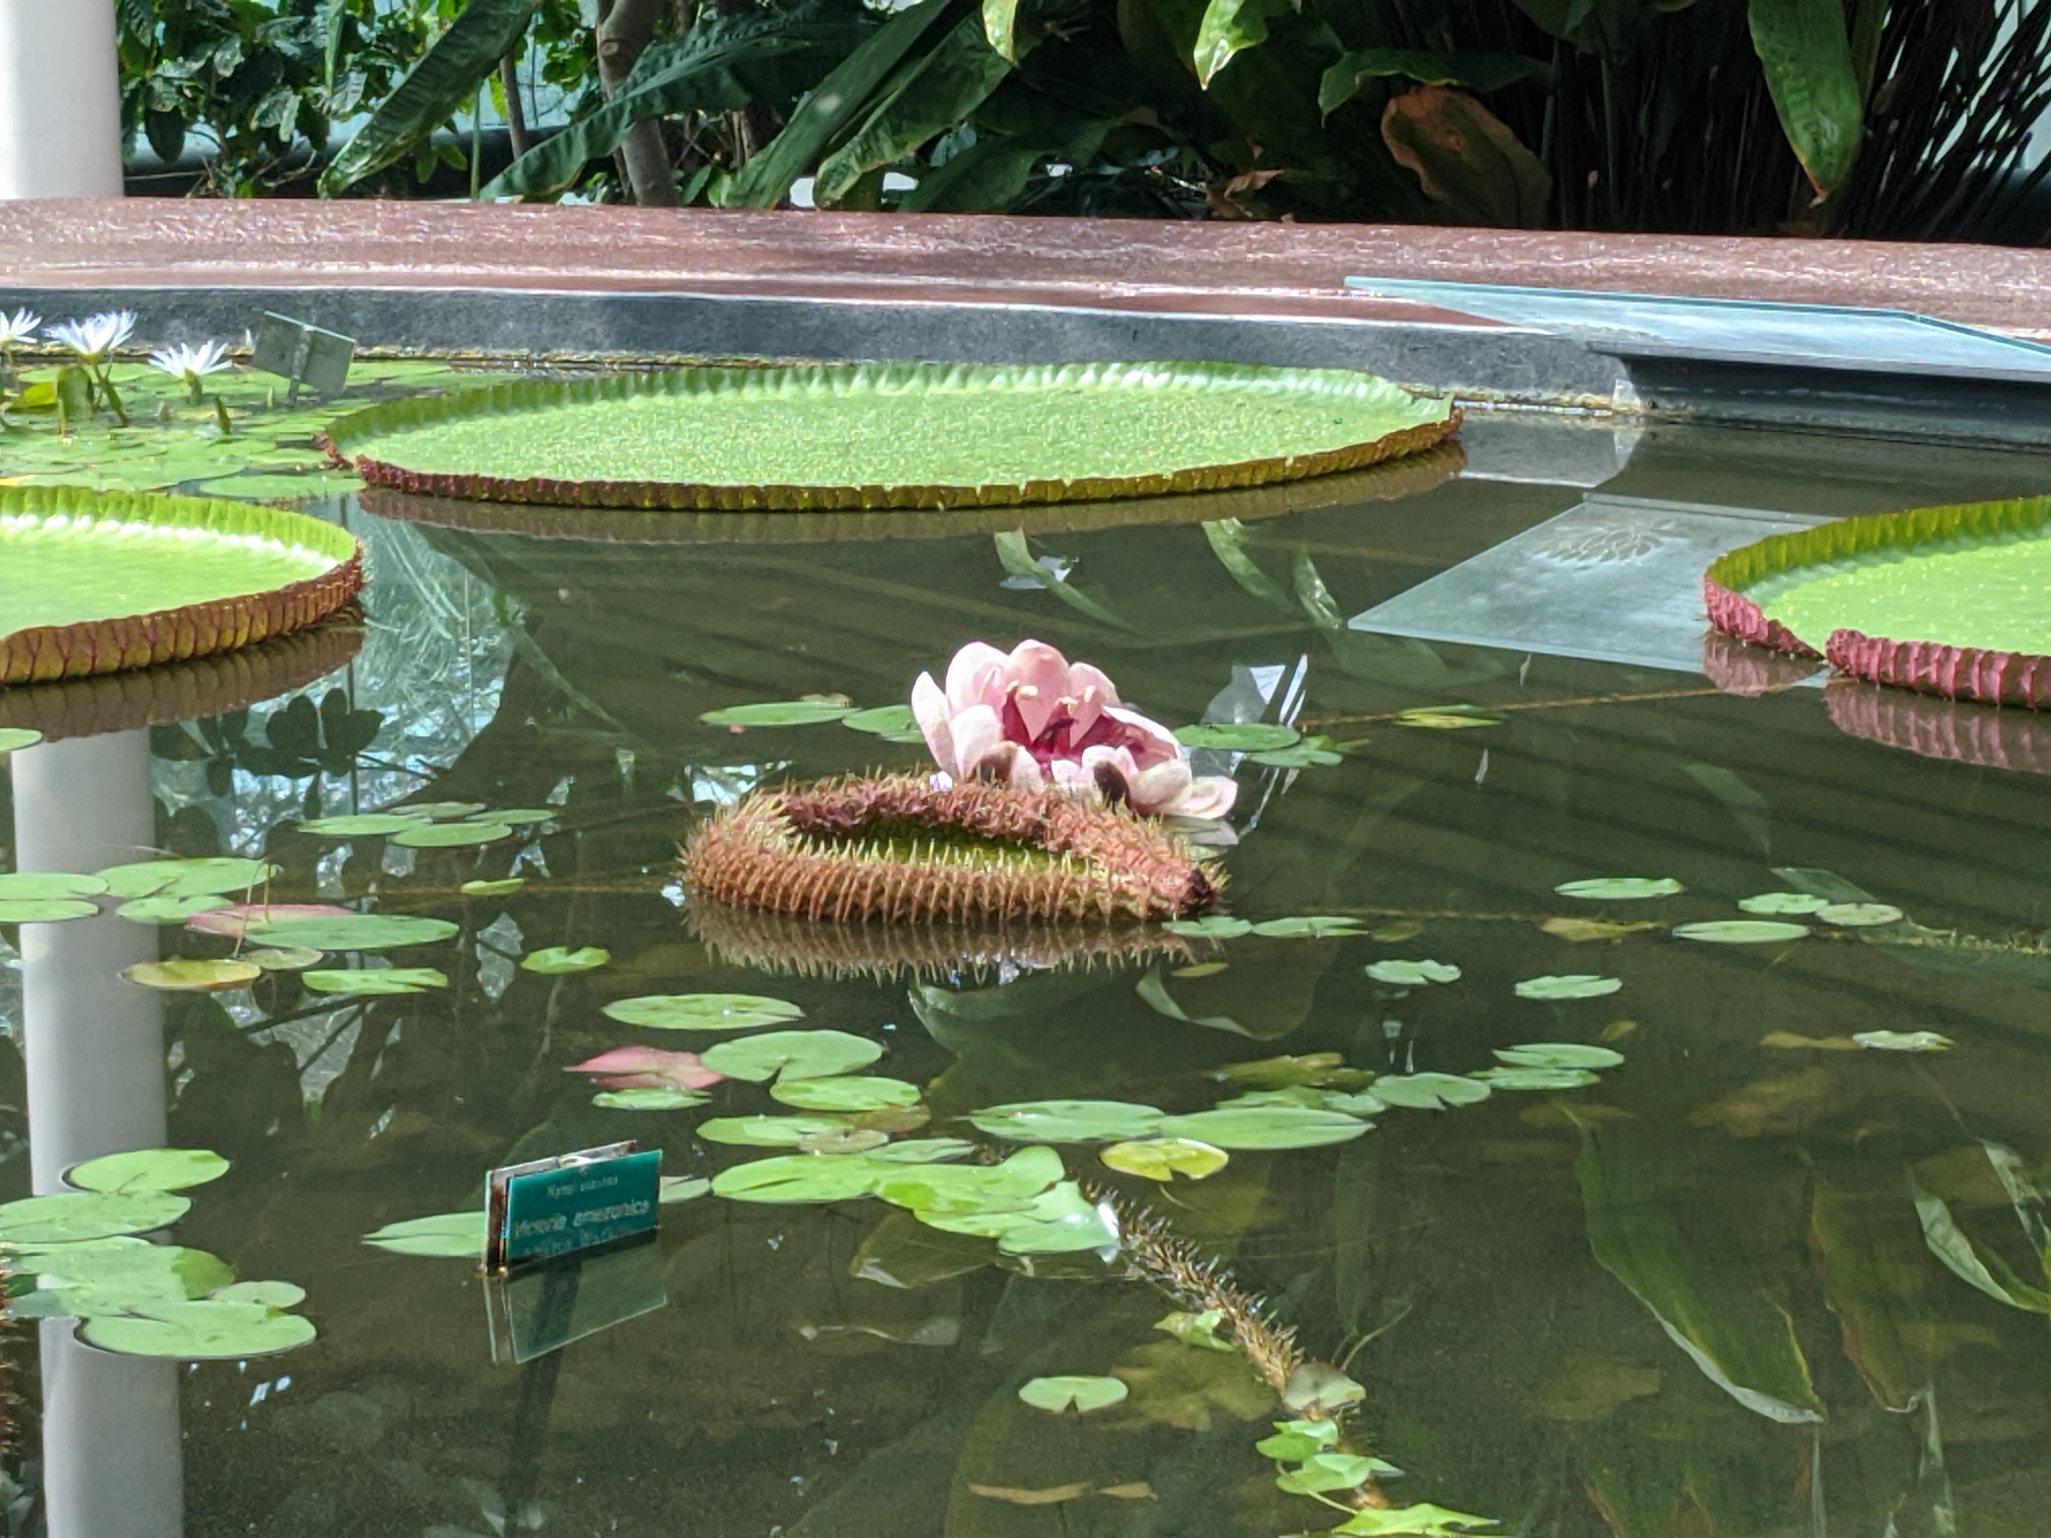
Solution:
<svg viewBox="0 0 2051 1538"><path fill-rule="evenodd" d="M373 486L496 502L878 509L1300 480L1458 410L1366 373L1231 363L835 363L523 379L386 402L328 443Z"/></svg>

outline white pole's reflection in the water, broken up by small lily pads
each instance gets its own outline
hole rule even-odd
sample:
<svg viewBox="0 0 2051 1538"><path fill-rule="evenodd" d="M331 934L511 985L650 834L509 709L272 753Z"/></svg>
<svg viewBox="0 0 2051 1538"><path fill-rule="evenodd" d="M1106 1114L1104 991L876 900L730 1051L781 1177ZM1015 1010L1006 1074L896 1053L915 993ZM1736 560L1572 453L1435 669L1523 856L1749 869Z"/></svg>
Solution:
<svg viewBox="0 0 2051 1538"><path fill-rule="evenodd" d="M113 732L10 755L16 869L96 872L148 859L150 734ZM164 1144L158 999L121 980L154 962L150 925L103 913L21 927L29 1163L64 1189L82 1159ZM51 1538L170 1538L185 1530L178 1366L109 1355L41 1323L43 1503Z"/></svg>

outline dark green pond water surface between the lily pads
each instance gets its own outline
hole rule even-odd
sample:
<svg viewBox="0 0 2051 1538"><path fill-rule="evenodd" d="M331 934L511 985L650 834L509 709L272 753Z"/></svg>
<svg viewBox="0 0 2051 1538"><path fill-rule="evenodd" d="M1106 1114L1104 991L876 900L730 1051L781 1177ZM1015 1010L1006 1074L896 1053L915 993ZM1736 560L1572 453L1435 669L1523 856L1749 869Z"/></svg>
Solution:
<svg viewBox="0 0 2051 1538"><path fill-rule="evenodd" d="M156 995L160 1036L144 1019L41 1089L35 1054L86 1015L25 999L25 980L55 986L35 947L57 927L0 927L0 1198L31 1191L33 1095L62 1095L37 1099L39 1116L59 1103L90 1124L103 1081L160 1072L168 1142L234 1161L191 1193L178 1243L297 1282L320 1331L246 1364L105 1358L72 1390L96 1388L94 1409L49 1401L47 1345L68 1323L18 1329L8 1530L51 1520L59 1464L133 1495L137 1526L109 1534L1272 1538L1341 1522L1276 1489L1253 1444L1284 1413L1253 1372L1155 1331L1171 1304L1089 1255L1001 1257L876 1200L701 1196L662 1208L652 1251L587 1263L582 1323L630 1317L494 1364L470 1261L361 1243L478 1206L484 1173L519 1159L634 1136L662 1148L665 1173L712 1175L783 1152L693 1136L712 1116L786 1111L761 1085L632 1111L593 1105L593 1085L564 1072L615 1046L722 1040L619 1025L601 1015L609 1001L757 993L800 1005L804 1027L878 1042L872 1072L919 1085L931 1111L909 1136L987 1144L960 1118L1052 1097L1198 1111L1237 1093L1220 1068L1278 1054L1466 1075L1495 1048L1606 1042L1624 1062L1594 1087L1393 1107L1358 1140L1233 1152L1198 1183L1116 1175L1089 1144L1060 1152L1073 1179L1142 1202L1229 1265L1309 1353L1348 1364L1366 1388L1352 1444L1407 1470L1386 1481L1393 1501L1549 1538L2043 1534L2051 1321L2026 1302L2047 1286L2033 1191L2051 1189L2051 722L1998 728L1891 699L1883 742L1836 724L1871 712L1782 687L1797 675L1758 658L1717 673L1764 693L1727 693L1700 671L1427 646L1343 617L1596 484L1848 515L2041 492L2051 476L2041 457L1924 445L1520 431L1522 457L1485 466L1518 480L1247 513L1237 543L1220 541L1245 558L1237 576L1196 521L1030 533L1023 554L1058 558L1067 599L1017 578L1017 541L989 523L775 541L757 519L693 525L745 539L621 543L455 527L447 507L425 523L320 504L371 556L347 666L246 714L170 707L142 732L55 746L131 755L162 851L269 855L283 867L273 898L453 921L453 939L390 954L449 986L347 999L287 972ZM550 527L578 533L574 515ZM693 937L673 859L695 816L783 775L925 761L837 724L730 732L701 712L806 693L896 703L960 644L1023 636L1097 662L1169 724L1202 718L1235 671L1247 714L1253 681L1280 677L1274 720L1296 679L1298 726L1343 761L1212 765L1239 779L1226 906L1354 917L1356 931L925 984L736 966ZM310 738L306 705L283 716L295 697L332 699L334 722L345 705L375 712L353 728L361 751L338 730ZM1456 703L1491 724L1401 720ZM482 849L295 828L404 798L560 818ZM0 869L14 812L0 808ZM459 892L513 874L517 892ZM1555 894L1598 876L1686 890ZM1743 919L1739 898L1797 882L1856 888L1905 921L1803 919L1813 933L1768 945L1670 933ZM1577 939L1544 927L1557 919L1647 927ZM164 956L228 949L178 927L137 933ZM548 945L611 962L513 966ZM1366 974L1399 958L1462 976L1403 988ZM1204 962L1222 968L1188 972ZM1514 993L1583 972L1622 988ZM92 978L72 984L92 997ZM1862 1031L1953 1046L1838 1046ZM1989 1282L2014 1296L1934 1253L1918 1191L1955 1224L1953 1261L1992 1257ZM1130 1392L1054 1417L1017 1399L1042 1374L1118 1374ZM125 1429L113 1442L94 1425Z"/></svg>

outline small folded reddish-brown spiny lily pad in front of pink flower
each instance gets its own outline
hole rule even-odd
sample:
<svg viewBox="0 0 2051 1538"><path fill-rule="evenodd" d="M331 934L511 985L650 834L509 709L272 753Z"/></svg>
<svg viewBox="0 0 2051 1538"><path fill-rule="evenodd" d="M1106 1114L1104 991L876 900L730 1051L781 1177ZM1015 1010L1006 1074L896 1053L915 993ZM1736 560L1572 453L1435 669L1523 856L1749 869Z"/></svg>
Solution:
<svg viewBox="0 0 2051 1538"><path fill-rule="evenodd" d="M683 847L693 896L835 923L1144 923L1218 900L1155 818L987 781L859 775L757 792Z"/></svg>

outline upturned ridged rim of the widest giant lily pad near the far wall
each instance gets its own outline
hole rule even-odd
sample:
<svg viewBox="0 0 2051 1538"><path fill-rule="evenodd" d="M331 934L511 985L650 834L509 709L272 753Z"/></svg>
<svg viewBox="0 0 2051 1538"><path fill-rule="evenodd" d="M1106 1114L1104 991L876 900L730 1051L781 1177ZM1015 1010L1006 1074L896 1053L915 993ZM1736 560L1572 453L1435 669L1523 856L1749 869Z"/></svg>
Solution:
<svg viewBox="0 0 2051 1538"><path fill-rule="evenodd" d="M792 394L835 398L870 396L878 402L923 392L1021 390L1161 390L1311 394L1335 408L1403 410L1409 427L1339 447L1188 466L1128 476L1036 478L1026 482L952 484L714 484L617 480L511 478L482 470L410 470L379 457L392 439L410 431L476 416L511 416L562 410L644 396L703 398L712 394ZM1257 363L808 363L777 369L693 367L656 373L609 373L595 379L513 379L441 396L388 400L336 418L316 441L338 466L353 468L371 486L392 486L429 496L464 496L484 502L546 502L554 507L626 507L677 511L870 511L1019 507L1034 502L1095 502L1169 492L1212 492L1239 486L1304 480L1339 470L1395 459L1430 449L1460 427L1460 408L1448 398L1415 396L1401 386L1356 369L1294 369ZM626 468L626 466L621 466Z"/></svg>

